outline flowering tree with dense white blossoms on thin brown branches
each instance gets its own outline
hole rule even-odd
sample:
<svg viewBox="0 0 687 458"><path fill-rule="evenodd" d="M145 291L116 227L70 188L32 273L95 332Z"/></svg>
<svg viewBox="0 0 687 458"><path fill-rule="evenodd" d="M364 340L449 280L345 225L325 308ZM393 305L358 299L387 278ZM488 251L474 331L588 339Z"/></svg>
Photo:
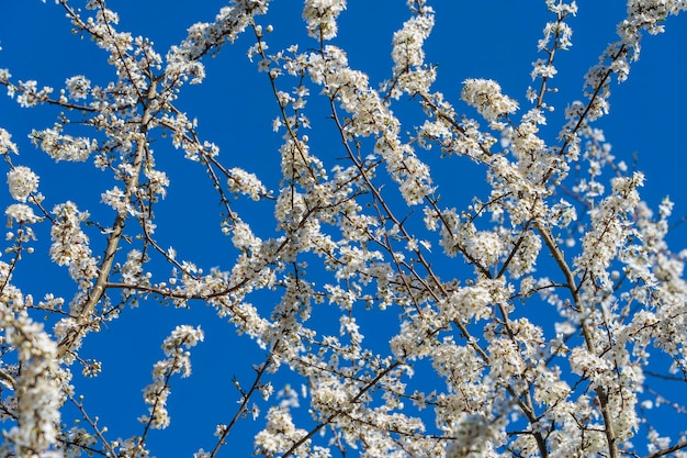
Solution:
<svg viewBox="0 0 687 458"><path fill-rule="evenodd" d="M245 423L266 457L687 455L687 431L656 420L684 421L687 409L687 254L664 241L673 203L650 210L642 174L595 126L642 36L663 32L685 1L628 0L618 41L551 137L554 62L572 45L575 2L543 2L550 22L526 100L470 78L462 103L433 88L425 0L407 1L379 86L335 44L345 0L304 1L300 46L268 47L279 32L270 2L237 0L162 54L123 31L104 0L56 3L106 53L114 78L76 75L53 89L10 68L0 83L21 107L56 114L30 134L55 170L85 161L110 178L91 208L43 196L30 145L0 126L12 198L0 260L1 456L148 456L206 323L162 342L132 436L111 435L109 413L75 387L101 372L97 333L116 334L133 306L155 303L160 314L209 305L263 355L247 362L251 377L225 381L235 410L213 440L199 439L198 458L229 456ZM258 122L281 138L278 179L221 154L180 108L206 57L246 40L271 88ZM430 166L448 161L457 174L478 169L486 186L438 182ZM206 174L194 186L219 202L212 232L232 254L224 265L203 266L158 235L183 217L166 213L174 182L158 164ZM457 191L474 197L464 204ZM20 280L42 252L71 281L38 299L40 273Z"/></svg>

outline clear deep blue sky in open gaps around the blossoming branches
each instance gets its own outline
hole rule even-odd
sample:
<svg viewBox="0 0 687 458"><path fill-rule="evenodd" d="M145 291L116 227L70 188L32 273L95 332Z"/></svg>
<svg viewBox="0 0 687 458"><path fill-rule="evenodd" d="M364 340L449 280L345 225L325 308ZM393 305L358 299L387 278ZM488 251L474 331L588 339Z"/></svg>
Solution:
<svg viewBox="0 0 687 458"><path fill-rule="evenodd" d="M316 46L312 40L307 41L299 2L274 0L273 3L273 11L260 19L263 25L274 25L274 32L267 36L271 51L295 41L305 43L303 46L307 43ZM550 98L559 113L567 102L582 98L584 74L596 63L606 44L615 41L615 25L623 16L621 1L581 0L577 3L579 12L570 21L574 30L573 47L559 55L559 75L553 83L560 91ZM217 0L109 3L120 13L121 30L150 37L162 55L184 37L189 25L211 21L224 4ZM544 2L435 0L430 4L437 11L437 24L427 43L427 62L439 65L437 88L458 107L463 107L459 102L461 81L495 79L505 93L527 107L525 92L531 85L531 63L540 57L537 41L545 22L551 20ZM375 85L390 76L391 37L407 18L402 0L351 0L341 15L335 44L347 49L351 66L369 74ZM56 88L65 78L78 74L99 83L111 79L113 71L106 66L104 54L88 38L80 40L72 34L70 29L60 7L49 0L46 4L38 0L1 1L0 68L9 68L16 79L37 79L40 85ZM687 215L684 191L687 148L683 138L687 107L684 87L687 18L669 18L666 29L665 34L644 38L642 57L633 65L629 80L620 86L613 82L610 115L598 126L605 130L618 157L631 163L633 155L637 156L638 168L646 174L643 198L655 206L669 194L676 202L677 220ZM250 37L244 36L233 46L223 48L215 58L206 59L206 81L199 87L185 87L179 107L190 118L198 118L199 133L222 148L226 164L246 167L275 190L279 180L277 149L281 138L280 134L272 134L271 120L277 109L269 93L269 80L246 58L251 44ZM407 113L402 115L408 119L417 115L410 103L399 107L401 110L408 107ZM41 191L50 205L70 199L92 213L106 211L102 206L99 210L98 202L110 183L109 177L90 164L56 166L26 138L31 129L52 125L56 115L57 111L50 108L20 109L11 100L0 98L0 126L13 134L21 149L14 163L29 165L41 176ZM558 132L560 123L555 121L560 119L554 114L550 120L551 133ZM326 119L313 120L316 126L326 122ZM317 131L312 136L316 134ZM328 137L315 142L324 148ZM207 186L204 171L180 159L181 154L169 144L160 142L155 148L158 161L168 167L171 179L168 198L159 210L166 223L159 223L158 236L204 268L228 266L227 259L234 253L228 241L219 236L216 196ZM331 160L327 167L334 164ZM431 160L429 164L432 165ZM468 199L475 190L483 189L482 178L471 178L452 167L436 167L437 181L446 187L443 193L455 193L454 199L460 202L462 197ZM4 187L1 188L0 203L4 205L10 198ZM239 204L239 209L247 210L249 205ZM263 217L261 213L255 214L256 220L260 217ZM102 221L109 217L103 216ZM678 226L671 236L676 252L685 247L686 226ZM267 235L272 231L272 226L266 227ZM37 247L45 246L42 243L47 239L46 234ZM16 283L36 297L64 291L68 298L71 286L67 283L65 289L66 272L46 264L45 259L45 255L38 253L26 258L15 275ZM87 393L87 406L109 426L111 437L136 434L139 428L134 418L146 412L140 390L150 381L153 364L162 356L159 349L162 339L181 323L200 324L206 332L206 340L192 350L194 376L173 384L170 429L160 434L154 432L150 436L153 455L158 457L191 456L198 448L207 449L214 444L214 425L226 423L228 412L233 415L236 405L232 377L248 382L252 375L250 365L260 360L261 350L249 339L236 337L229 325L216 320L214 312L201 304L194 304L190 311L171 311L151 302L127 310L102 333L88 337L85 356L92 351L92 357L101 357L99 351L104 350L103 373L95 380L75 381L77 389ZM379 338L383 342L383 337ZM243 421L229 436L230 446L219 456L249 456L252 434L250 421Z"/></svg>

